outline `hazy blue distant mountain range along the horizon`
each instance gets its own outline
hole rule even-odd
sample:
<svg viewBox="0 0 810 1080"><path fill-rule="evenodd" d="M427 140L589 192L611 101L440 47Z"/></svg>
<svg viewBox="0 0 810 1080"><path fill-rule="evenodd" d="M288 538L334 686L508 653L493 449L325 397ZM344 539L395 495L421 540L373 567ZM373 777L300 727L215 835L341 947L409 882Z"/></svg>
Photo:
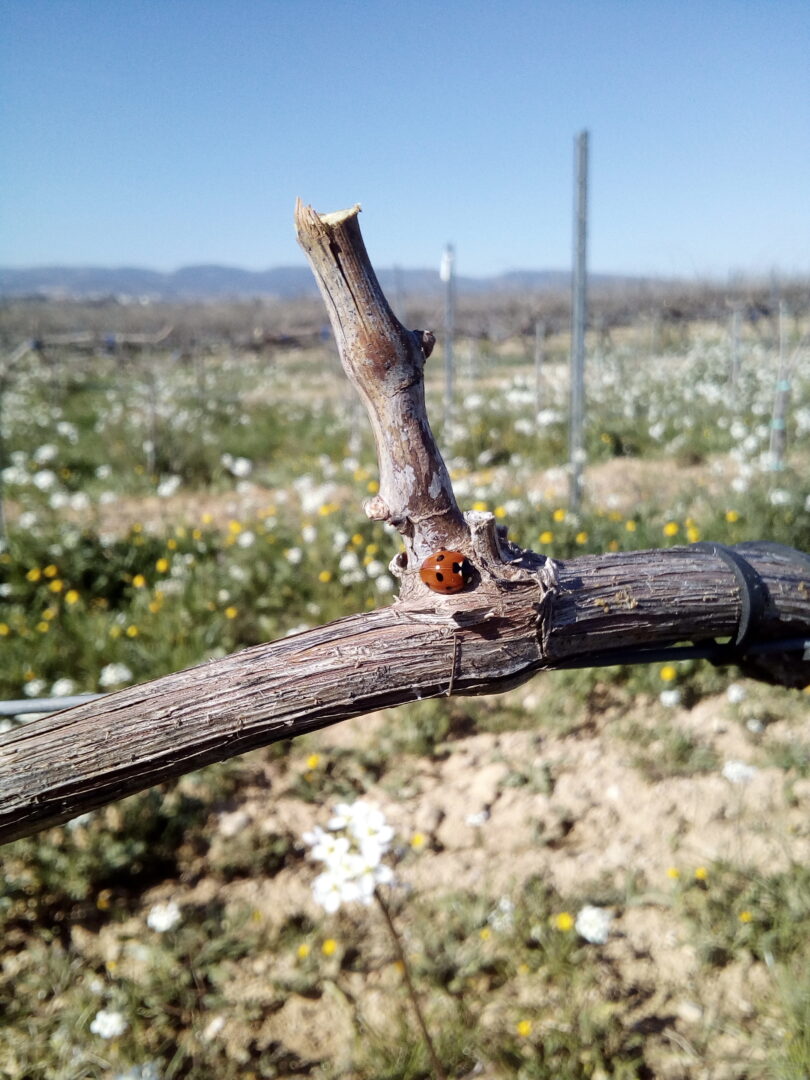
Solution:
<svg viewBox="0 0 810 1080"><path fill-rule="evenodd" d="M380 270L380 285L394 299L400 295L431 296L444 284L436 270ZM592 287L640 285L643 279L594 274ZM492 278L457 278L459 293L558 293L569 287L570 274L563 270L513 270ZM26 270L0 268L0 297L49 297L54 299L225 300L252 297L294 299L315 296L318 288L307 267L272 270L240 270L237 267L183 267L171 273L138 267L35 267Z"/></svg>

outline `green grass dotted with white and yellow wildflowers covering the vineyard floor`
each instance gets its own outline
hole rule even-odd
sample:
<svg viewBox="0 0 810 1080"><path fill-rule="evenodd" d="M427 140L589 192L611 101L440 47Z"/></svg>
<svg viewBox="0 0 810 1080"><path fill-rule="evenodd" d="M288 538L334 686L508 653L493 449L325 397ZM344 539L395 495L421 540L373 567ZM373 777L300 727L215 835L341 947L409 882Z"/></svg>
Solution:
<svg viewBox="0 0 810 1080"><path fill-rule="evenodd" d="M801 449L810 384L797 375L788 438L798 453L791 468L770 472L762 453L775 360L754 360L734 400L716 340L651 362L619 348L594 363L592 462L697 463L707 485L717 456L730 455L740 483L644 501L617 490L575 516L544 473L564 458L564 388L549 380L538 420L530 363L517 356L507 367L482 356L482 380L500 381L468 380L453 430L438 426L459 501L491 510L518 542L561 558L698 539L767 538L810 550ZM435 403L441 388L431 378ZM123 681L151 679L390 603L387 565L399 541L362 514L376 467L365 423L342 418L346 400L326 352L272 366L225 354L193 364L168 355L123 366L70 354L55 367L33 361L3 401L0 468L11 512L0 549L0 696L48 694L65 679L75 692L104 689L112 665L129 673ZM234 464L239 458L247 465ZM183 519L154 498L166 480L192 497ZM691 707L719 694L733 672L697 661L669 666L552 672L528 691L418 702L387 714L359 746L326 754L312 741L279 744L2 849L0 1076L428 1077L372 914L356 905L320 918L303 904L276 910L295 882L311 877L295 822L313 805L372 788L394 802L414 798L420 779L464 740L527 729L537 731L538 759L544 740L610 731L647 782L714 772L716 752L677 726L661 692L677 690L680 707ZM783 771L799 805L805 741L771 739L768 729L798 728L805 697L765 687L748 693L724 705L724 716L729 725L756 721L744 730L757 761ZM253 814L258 785L286 800L287 824ZM553 799L555 767L532 753L530 762L510 762L501 786L527 802ZM247 789L253 804L243 802ZM244 806L251 813L224 833L222 820L239 821ZM576 824L566 820L566 829ZM539 835L538 861L553 859L559 841ZM397 865L441 853L411 842L399 838ZM627 920L656 905L697 951L710 987L713 973L737 963L773 972L755 1002L773 1025L752 1023L740 1035L751 1054L739 1075L807 1076L808 872L800 863L773 873L721 863L705 870L665 895L633 866L625 891L583 878L562 893L541 877L503 895L484 881L475 890L437 880L424 894L396 891L391 903L448 1076L656 1075L654 1032L635 1020L648 991L625 977L610 946L577 934L584 903ZM175 895L177 927L150 928L156 897ZM273 1017L289 1002L302 1015L313 1005L342 1017L348 1064L315 1045L305 1053L284 1044ZM102 1010L121 1015L120 1035L93 1034ZM711 1063L721 1034L693 1036ZM767 1064L751 1064L757 1059Z"/></svg>

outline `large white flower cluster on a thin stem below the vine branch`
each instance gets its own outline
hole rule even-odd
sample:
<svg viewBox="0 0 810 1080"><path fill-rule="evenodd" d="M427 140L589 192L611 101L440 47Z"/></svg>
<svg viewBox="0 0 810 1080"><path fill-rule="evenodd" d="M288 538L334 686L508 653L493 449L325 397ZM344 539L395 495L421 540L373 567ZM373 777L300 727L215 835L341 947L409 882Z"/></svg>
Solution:
<svg viewBox="0 0 810 1080"><path fill-rule="evenodd" d="M305 833L311 856L326 867L312 882L316 903L330 914L353 901L369 904L378 886L394 880L382 862L393 835L379 807L364 799L339 802L326 829Z"/></svg>

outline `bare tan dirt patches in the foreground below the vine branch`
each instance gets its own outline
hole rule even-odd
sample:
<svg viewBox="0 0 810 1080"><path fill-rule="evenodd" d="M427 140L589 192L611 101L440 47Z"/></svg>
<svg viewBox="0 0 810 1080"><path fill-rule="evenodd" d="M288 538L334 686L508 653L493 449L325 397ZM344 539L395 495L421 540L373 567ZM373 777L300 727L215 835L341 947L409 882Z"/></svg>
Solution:
<svg viewBox="0 0 810 1080"><path fill-rule="evenodd" d="M653 1075L664 1080L759 1075L740 1063L755 1063L764 1042L779 1038L779 1020L762 1011L773 975L742 954L721 970L707 971L687 924L673 913L673 868L689 880L697 868L717 860L752 874L807 862L810 780L794 780L788 786L784 771L769 767L762 754L767 742L797 738L795 716L793 724L770 723L757 744L726 696L706 699L692 710L670 710L667 724L716 754L717 768L656 780L639 770L633 741L613 731L616 718L609 711L572 732L554 734L548 726L542 679L519 693L536 726L454 740L438 756L411 758L394 796L390 775L365 794L384 810L405 843L415 833L428 839L422 856L406 861L397 876L421 897L467 889L497 902L519 895L525 882L538 875L564 896L582 902L592 893L604 895L606 888L626 893L631 899L615 905L616 919L603 947L615 984L605 993L625 1002L624 1024L646 1032L645 1055ZM661 708L657 702L643 703L632 719L639 730L652 729L661 721ZM391 723L396 723L395 713L348 720L309 737L306 750L324 760L347 748L362 752ZM648 748L654 756L654 744ZM723 774L727 761L758 765L746 782L735 783ZM262 769L264 778L220 819L221 842L228 842L234 828L259 823L270 833L296 836L325 823L328 807L297 797L288 772L272 762ZM515 786L510 777L516 772L529 781L551 775L553 789L545 792L542 782ZM249 905L270 927L301 912L322 919L310 894L315 873L307 864L273 878L232 881L225 887L225 899ZM636 887L629 890L631 881ZM214 890L222 899L221 883L203 879L185 895L173 887L171 899L204 903ZM153 900L163 899L170 897L156 891ZM386 951L384 942L380 948ZM243 976L239 994L248 997L266 983L261 962ZM340 978L341 985L346 980L352 984L354 1007L369 1023L376 1017L384 1026L400 1000L391 966L381 964L370 978L350 972ZM504 1009L514 1009L521 994L532 1003L539 993L531 981L522 989L511 986L505 995L494 996L482 1023L497 1023ZM292 995L267 1023L268 1041L281 1040L292 1052L299 1043L306 1045L310 1059L316 1049L333 1067L343 1062L349 1069L354 1020L342 991L318 999ZM758 1030L756 1039L753 1028ZM313 1030L319 1032L316 1048ZM222 1037L238 1040L241 1035L226 1024Z"/></svg>

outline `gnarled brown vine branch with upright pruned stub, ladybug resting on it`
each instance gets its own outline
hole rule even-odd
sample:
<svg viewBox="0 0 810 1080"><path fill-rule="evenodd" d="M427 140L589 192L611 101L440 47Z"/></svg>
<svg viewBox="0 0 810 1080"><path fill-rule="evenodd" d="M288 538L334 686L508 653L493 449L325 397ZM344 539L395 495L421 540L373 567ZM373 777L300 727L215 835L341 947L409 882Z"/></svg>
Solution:
<svg viewBox="0 0 810 1080"><path fill-rule="evenodd" d="M717 553L696 548L588 555L524 551L490 514L459 509L424 407L432 335L394 318L368 261L359 207L318 215L300 203L312 265L347 375L377 441L369 517L400 530L400 596L390 607L211 661L0 738L0 842L213 761L373 710L438 694L495 693L539 671L617 662L617 650L734 637L744 597ZM418 575L442 546L474 567L462 592ZM737 549L758 576L756 639L810 636L810 562L778 545ZM741 658L747 673L810 683L810 659Z"/></svg>

